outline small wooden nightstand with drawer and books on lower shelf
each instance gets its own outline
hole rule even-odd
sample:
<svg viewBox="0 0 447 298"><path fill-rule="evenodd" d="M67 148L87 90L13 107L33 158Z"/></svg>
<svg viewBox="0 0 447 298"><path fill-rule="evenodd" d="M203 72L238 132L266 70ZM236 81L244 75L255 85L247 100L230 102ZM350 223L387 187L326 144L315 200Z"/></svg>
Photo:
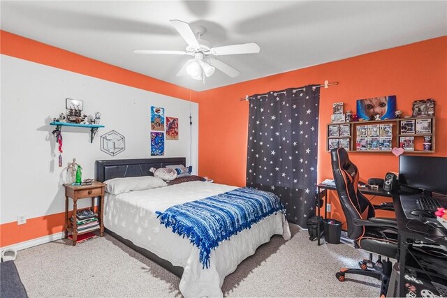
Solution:
<svg viewBox="0 0 447 298"><path fill-rule="evenodd" d="M64 184L65 186L65 237L68 237L68 232L71 232L71 237L73 240L73 245L76 245L76 240L78 235L85 234L86 232L92 232L94 230L100 230L101 236L104 234L104 223L103 223L103 210L104 210L104 188L105 184L93 181L91 185L75 186L71 184ZM73 224L70 223L68 218L68 198L73 200L73 215L76 217L76 212L78 211L78 199L91 198L91 210L94 211L95 207L95 197L99 197L98 201L98 221L99 227L94 230L80 231L78 232L78 225L76 220ZM75 218L76 219L76 218Z"/></svg>

